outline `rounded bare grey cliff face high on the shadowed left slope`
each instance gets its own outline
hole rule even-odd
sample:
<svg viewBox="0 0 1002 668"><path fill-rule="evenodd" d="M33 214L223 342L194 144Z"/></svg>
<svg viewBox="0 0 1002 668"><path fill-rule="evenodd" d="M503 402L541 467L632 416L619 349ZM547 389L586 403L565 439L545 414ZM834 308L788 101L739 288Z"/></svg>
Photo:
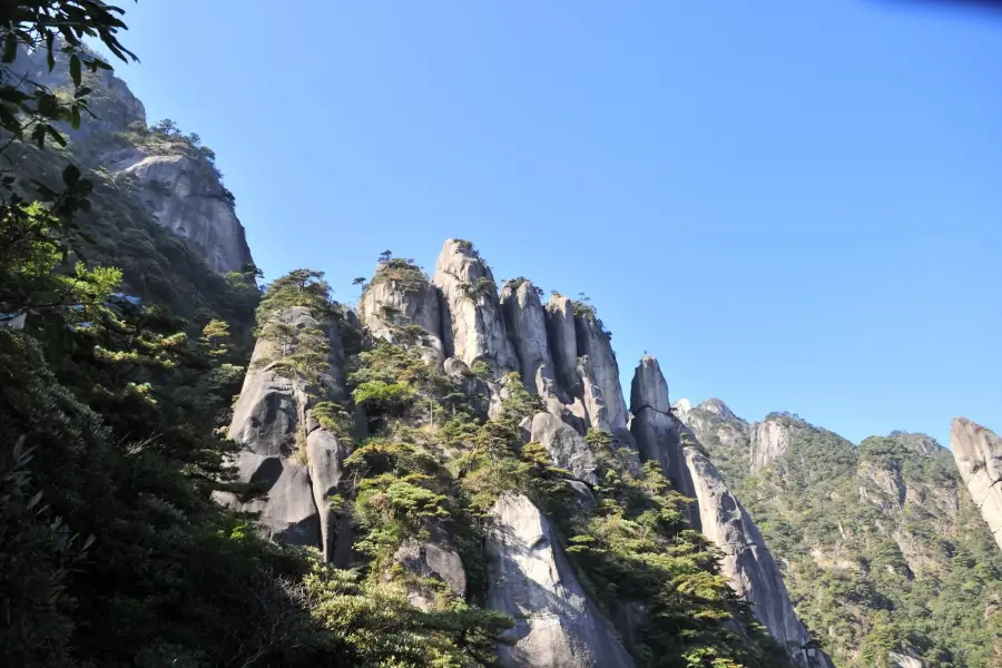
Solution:
<svg viewBox="0 0 1002 668"><path fill-rule="evenodd" d="M158 145L163 146L163 145ZM138 198L157 223L188 239L214 272L236 272L252 262L244 226L226 200L212 166L185 144L157 154L144 146L106 156L116 177L135 179Z"/></svg>

